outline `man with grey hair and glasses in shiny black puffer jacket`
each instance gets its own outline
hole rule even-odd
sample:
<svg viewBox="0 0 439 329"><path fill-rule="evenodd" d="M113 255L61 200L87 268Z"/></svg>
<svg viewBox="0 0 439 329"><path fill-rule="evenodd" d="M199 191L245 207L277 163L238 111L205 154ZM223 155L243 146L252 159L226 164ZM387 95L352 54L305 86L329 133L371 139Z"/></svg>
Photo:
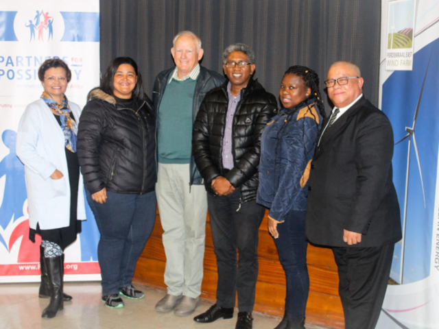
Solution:
<svg viewBox="0 0 439 329"><path fill-rule="evenodd" d="M276 114L276 99L252 79L256 66L250 47L230 45L223 63L228 81L206 94L193 125L193 156L208 192L218 267L217 303L194 320L233 317L237 291L236 328L247 329L252 328L258 231L265 213L255 202L261 135Z"/></svg>

